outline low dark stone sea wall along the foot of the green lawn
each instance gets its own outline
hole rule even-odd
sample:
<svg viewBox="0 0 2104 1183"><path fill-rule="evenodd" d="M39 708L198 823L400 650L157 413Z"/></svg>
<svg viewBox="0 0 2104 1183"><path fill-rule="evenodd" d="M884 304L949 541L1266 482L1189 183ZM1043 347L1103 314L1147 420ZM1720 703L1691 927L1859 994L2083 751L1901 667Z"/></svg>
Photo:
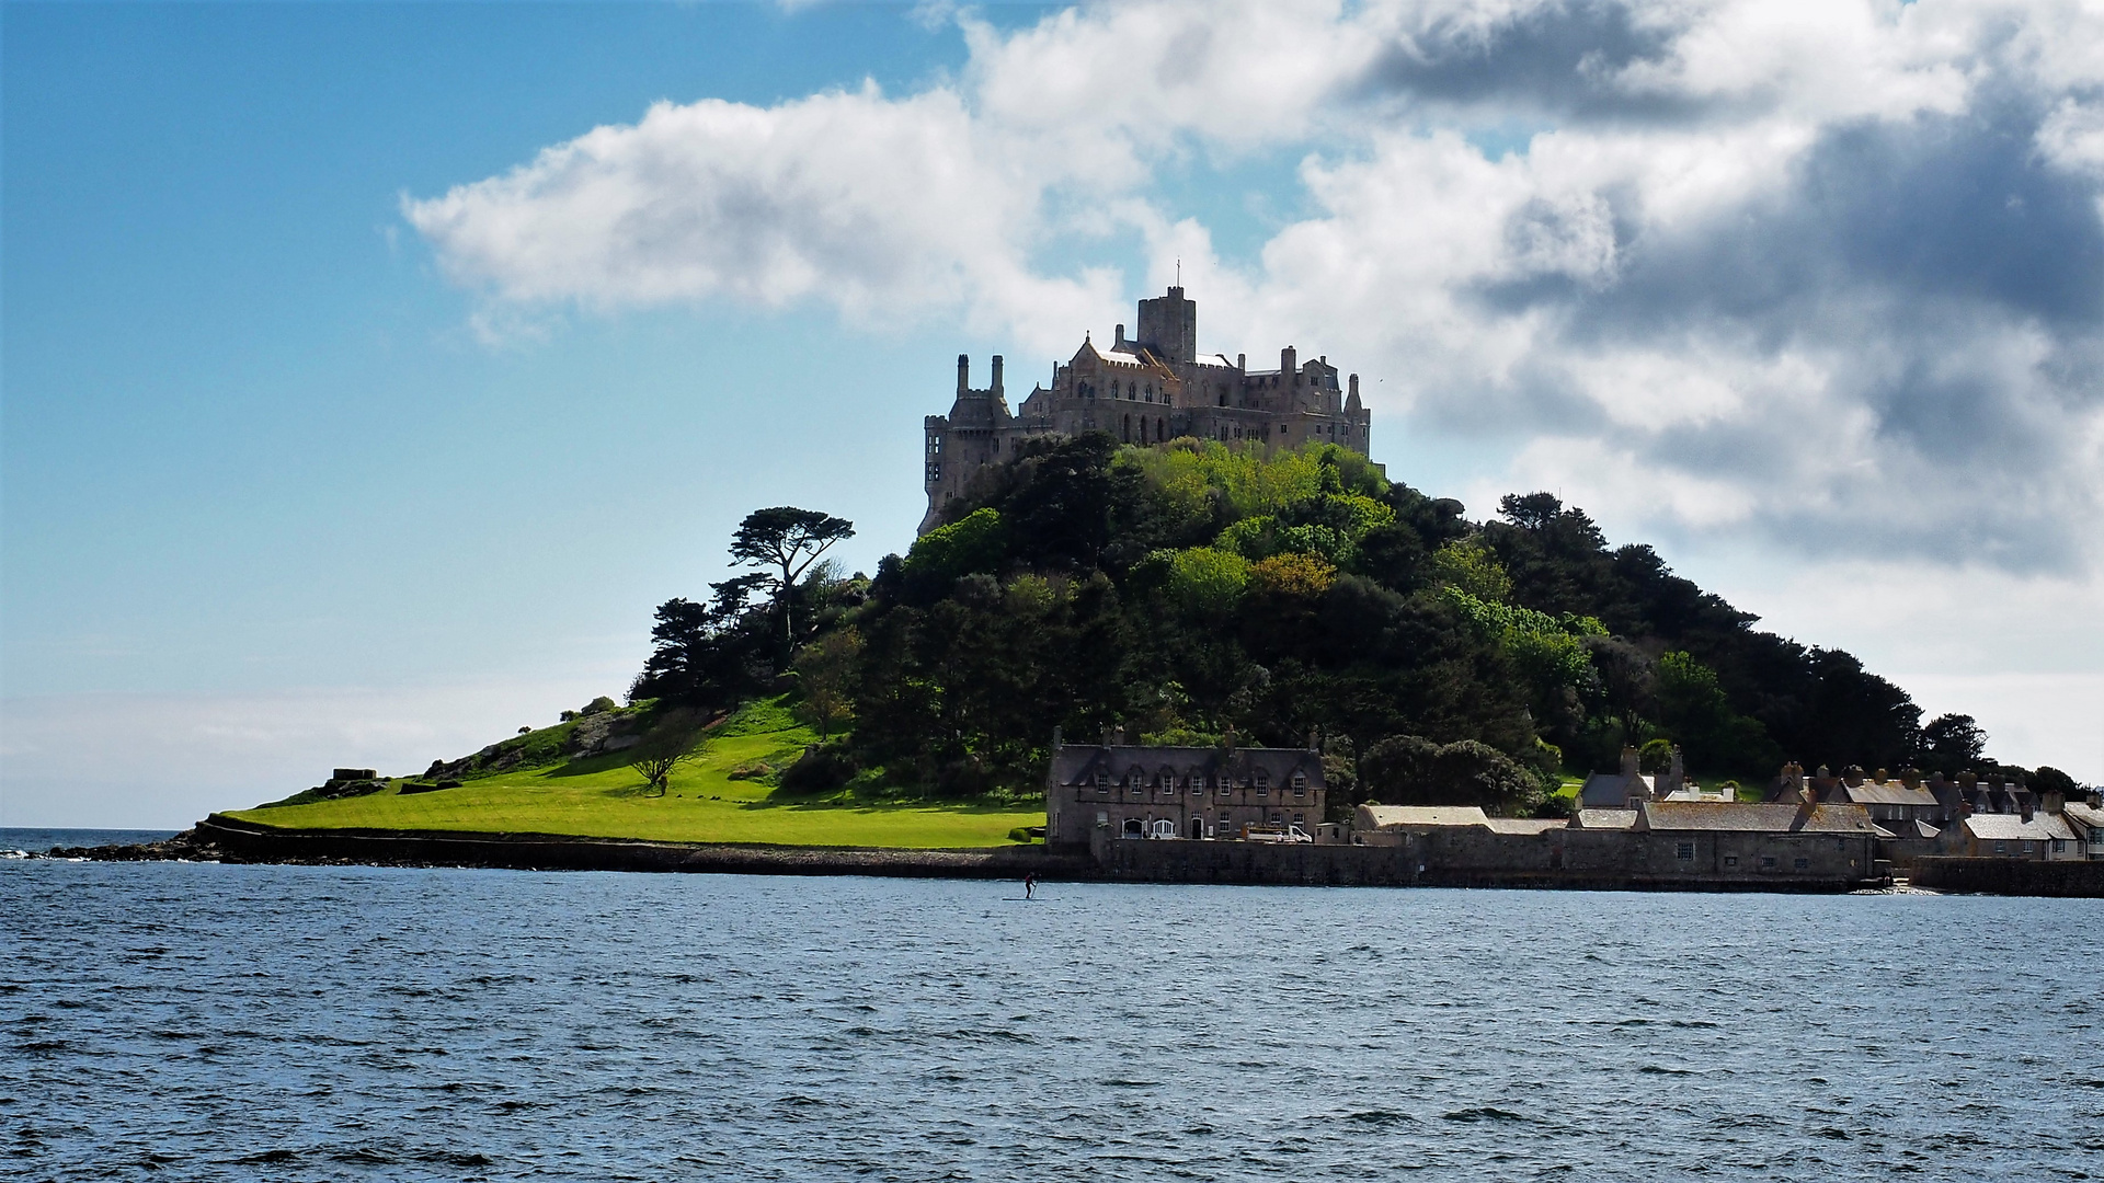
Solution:
<svg viewBox="0 0 2104 1183"><path fill-rule="evenodd" d="M198 842L225 863L360 863L398 867L511 867L545 871L717 871L745 876L903 876L1020 880L1096 878L1086 853L1044 846L894 850L863 846L762 846L640 842L562 834L446 829L280 829L223 815L198 823Z"/></svg>

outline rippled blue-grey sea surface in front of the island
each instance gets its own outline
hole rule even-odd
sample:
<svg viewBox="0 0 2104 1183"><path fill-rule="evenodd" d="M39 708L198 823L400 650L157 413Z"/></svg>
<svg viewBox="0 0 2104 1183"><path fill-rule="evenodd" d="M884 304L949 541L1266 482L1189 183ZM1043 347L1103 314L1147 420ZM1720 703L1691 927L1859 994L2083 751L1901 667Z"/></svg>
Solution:
<svg viewBox="0 0 2104 1183"><path fill-rule="evenodd" d="M2096 901L1020 895L0 861L0 1177L2104 1177Z"/></svg>

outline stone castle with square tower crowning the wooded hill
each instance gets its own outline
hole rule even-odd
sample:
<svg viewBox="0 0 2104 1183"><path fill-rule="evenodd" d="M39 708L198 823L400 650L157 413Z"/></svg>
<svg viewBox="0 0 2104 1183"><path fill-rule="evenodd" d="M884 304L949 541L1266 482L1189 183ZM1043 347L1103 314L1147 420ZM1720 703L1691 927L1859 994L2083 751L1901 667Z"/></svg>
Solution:
<svg viewBox="0 0 2104 1183"><path fill-rule="evenodd" d="M1008 459L1031 436L1109 432L1128 444L1193 440L1256 440L1273 446L1342 444L1365 455L1370 413L1359 402L1359 375L1338 387L1328 358L1300 360L1279 349L1279 368L1252 370L1248 354L1197 352L1197 301L1182 288L1140 301L1138 335L1126 326L1109 349L1084 339L1073 360L1052 368L1052 385L1031 389L1018 410L1002 389L1002 358L993 381L972 389L972 362L957 358L957 400L949 415L926 421L928 514L919 533L943 524L943 503L972 476Z"/></svg>

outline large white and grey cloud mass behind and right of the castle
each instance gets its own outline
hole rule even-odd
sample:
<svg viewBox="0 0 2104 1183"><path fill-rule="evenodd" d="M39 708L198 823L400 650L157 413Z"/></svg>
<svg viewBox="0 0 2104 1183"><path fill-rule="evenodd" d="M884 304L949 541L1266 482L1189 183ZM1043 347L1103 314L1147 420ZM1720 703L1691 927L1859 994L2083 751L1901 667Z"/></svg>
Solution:
<svg viewBox="0 0 2104 1183"><path fill-rule="evenodd" d="M1185 0L915 95L661 103L406 200L482 318L825 301L1065 354L1136 229L1208 347L1294 341L1500 480L1799 556L2083 573L2104 512L2104 17L2081 4ZM1528 124L1525 152L1469 139ZM1155 187L1300 154L1227 259ZM1197 164L1193 164L1197 162ZM1225 175L1222 175L1225 177ZM1288 204L1294 204L1292 200ZM1387 379L1387 381L1374 381ZM1534 480L1540 478L1540 480Z"/></svg>

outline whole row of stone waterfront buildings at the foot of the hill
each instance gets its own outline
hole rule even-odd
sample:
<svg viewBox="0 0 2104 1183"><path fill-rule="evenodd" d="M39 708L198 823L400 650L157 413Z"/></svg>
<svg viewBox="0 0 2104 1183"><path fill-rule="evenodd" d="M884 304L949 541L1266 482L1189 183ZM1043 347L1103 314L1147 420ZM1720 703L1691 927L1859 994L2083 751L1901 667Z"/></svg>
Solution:
<svg viewBox="0 0 2104 1183"><path fill-rule="evenodd" d="M1326 821L1328 781L1307 747L1065 743L1054 733L1046 840L1235 840L1387 846L1418 871L1683 882L1862 882L1925 855L2104 859L2096 796L2066 802L2022 781L1940 773L1805 775L1784 766L1765 800L1704 791L1681 770L1586 779L1572 817L1506 819L1475 806L1363 804Z"/></svg>

